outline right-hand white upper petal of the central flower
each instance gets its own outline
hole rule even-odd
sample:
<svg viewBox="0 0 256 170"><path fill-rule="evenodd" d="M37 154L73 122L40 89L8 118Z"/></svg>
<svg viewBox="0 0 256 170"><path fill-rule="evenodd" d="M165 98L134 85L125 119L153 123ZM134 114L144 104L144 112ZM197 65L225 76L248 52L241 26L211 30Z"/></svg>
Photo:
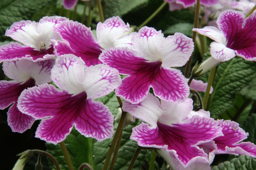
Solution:
<svg viewBox="0 0 256 170"><path fill-rule="evenodd" d="M167 68L184 66L194 51L192 39L181 33L168 36L160 46L158 55Z"/></svg>

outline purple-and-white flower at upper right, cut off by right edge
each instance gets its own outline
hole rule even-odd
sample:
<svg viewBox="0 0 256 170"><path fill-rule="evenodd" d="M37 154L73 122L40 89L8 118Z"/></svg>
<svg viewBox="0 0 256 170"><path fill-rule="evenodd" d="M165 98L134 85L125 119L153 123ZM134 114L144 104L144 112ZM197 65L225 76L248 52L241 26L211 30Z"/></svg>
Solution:
<svg viewBox="0 0 256 170"><path fill-rule="evenodd" d="M219 62L228 61L236 55L246 60L256 61L256 14L245 18L244 13L234 10L219 14L217 24L194 28L193 31L213 39L211 56Z"/></svg>

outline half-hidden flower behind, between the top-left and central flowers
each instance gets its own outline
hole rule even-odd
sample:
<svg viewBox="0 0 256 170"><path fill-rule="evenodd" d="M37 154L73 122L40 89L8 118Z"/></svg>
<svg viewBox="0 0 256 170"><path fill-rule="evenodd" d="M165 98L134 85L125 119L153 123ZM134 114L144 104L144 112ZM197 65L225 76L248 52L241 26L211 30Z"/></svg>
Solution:
<svg viewBox="0 0 256 170"><path fill-rule="evenodd" d="M98 23L97 39L91 28L73 21L62 22L55 31L61 34L61 41L55 42L56 54L73 54L81 57L86 66L101 64L98 56L103 49L131 45L131 35L123 35L130 31L129 24L125 24L118 16L109 18L104 23Z"/></svg>

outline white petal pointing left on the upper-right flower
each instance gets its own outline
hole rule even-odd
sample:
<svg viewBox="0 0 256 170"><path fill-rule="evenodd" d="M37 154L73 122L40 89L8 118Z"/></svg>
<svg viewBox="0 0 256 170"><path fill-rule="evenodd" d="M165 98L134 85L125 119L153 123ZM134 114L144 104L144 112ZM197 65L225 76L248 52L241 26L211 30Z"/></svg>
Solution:
<svg viewBox="0 0 256 170"><path fill-rule="evenodd" d="M216 27L206 26L204 28L193 28L193 31L196 31L201 35L205 35L218 43L226 43L226 37L223 32Z"/></svg>

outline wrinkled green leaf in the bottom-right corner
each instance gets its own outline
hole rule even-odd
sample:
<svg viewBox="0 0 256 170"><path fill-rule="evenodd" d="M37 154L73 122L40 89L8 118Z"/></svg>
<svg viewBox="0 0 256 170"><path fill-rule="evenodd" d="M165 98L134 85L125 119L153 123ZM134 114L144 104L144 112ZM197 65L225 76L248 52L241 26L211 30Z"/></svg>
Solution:
<svg viewBox="0 0 256 170"><path fill-rule="evenodd" d="M240 155L231 161L225 161L212 170L256 170L256 158Z"/></svg>

